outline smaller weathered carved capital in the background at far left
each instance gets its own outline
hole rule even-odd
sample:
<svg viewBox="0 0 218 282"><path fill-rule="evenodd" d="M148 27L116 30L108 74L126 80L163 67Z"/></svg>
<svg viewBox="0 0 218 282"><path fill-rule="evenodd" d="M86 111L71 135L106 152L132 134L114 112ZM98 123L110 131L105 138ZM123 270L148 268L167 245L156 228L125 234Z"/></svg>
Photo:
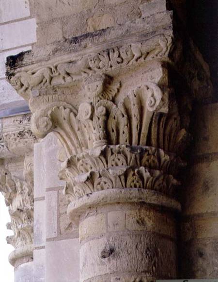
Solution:
<svg viewBox="0 0 218 282"><path fill-rule="evenodd" d="M33 259L33 144L31 115L1 119L0 192L9 207L7 236L15 250L9 262L15 267Z"/></svg>

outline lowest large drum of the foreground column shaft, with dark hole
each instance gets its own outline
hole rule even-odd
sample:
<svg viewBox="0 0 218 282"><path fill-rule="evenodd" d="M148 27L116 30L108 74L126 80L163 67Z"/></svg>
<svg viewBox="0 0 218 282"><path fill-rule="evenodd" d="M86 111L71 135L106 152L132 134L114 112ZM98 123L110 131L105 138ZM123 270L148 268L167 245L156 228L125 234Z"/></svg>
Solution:
<svg viewBox="0 0 218 282"><path fill-rule="evenodd" d="M154 234L114 234L80 248L80 280L116 272L138 272L150 277L155 272L158 279L173 279L175 261L175 243L170 240Z"/></svg>

